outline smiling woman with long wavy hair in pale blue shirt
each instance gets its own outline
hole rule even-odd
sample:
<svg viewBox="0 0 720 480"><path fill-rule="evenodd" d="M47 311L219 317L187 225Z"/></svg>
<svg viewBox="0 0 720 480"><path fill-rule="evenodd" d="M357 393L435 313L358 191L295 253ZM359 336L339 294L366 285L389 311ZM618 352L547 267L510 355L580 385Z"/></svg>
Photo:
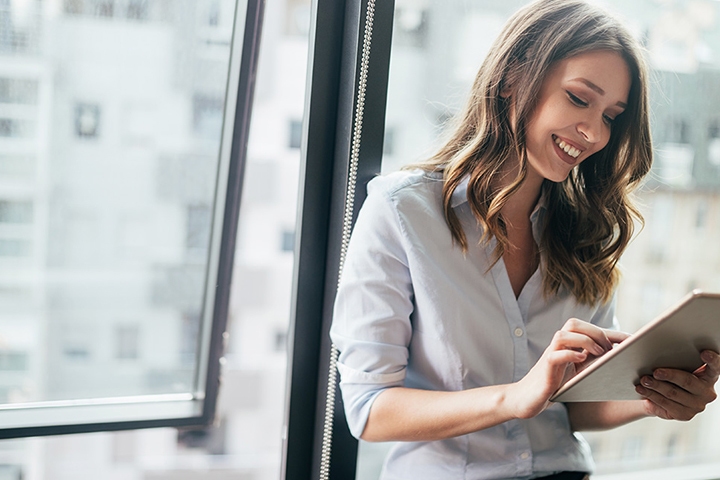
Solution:
<svg viewBox="0 0 720 480"><path fill-rule="evenodd" d="M689 419L720 357L660 369L643 400L554 404L616 331L617 262L650 169L647 73L631 35L577 0L515 14L454 133L427 163L373 180L332 339L352 433L400 441L383 479L583 478L575 431Z"/></svg>

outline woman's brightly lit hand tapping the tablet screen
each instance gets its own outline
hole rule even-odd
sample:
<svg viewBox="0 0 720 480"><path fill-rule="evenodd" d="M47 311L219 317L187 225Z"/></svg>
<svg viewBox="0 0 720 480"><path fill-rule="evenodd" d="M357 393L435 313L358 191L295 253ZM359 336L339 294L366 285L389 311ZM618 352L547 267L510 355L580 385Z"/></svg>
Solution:
<svg viewBox="0 0 720 480"><path fill-rule="evenodd" d="M576 318L565 322L528 374L510 386L508 400L515 416L532 418L541 413L565 382L629 336Z"/></svg>

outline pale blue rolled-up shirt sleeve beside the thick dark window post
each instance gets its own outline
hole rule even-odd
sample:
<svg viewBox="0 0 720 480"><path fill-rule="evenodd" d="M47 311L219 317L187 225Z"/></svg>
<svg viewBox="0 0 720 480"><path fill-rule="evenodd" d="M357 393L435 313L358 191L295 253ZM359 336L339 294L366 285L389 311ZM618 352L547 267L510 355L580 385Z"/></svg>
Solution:
<svg viewBox="0 0 720 480"><path fill-rule="evenodd" d="M401 386L412 335L412 284L407 240L382 178L368 186L350 240L330 336L351 433L362 434L373 401Z"/></svg>

